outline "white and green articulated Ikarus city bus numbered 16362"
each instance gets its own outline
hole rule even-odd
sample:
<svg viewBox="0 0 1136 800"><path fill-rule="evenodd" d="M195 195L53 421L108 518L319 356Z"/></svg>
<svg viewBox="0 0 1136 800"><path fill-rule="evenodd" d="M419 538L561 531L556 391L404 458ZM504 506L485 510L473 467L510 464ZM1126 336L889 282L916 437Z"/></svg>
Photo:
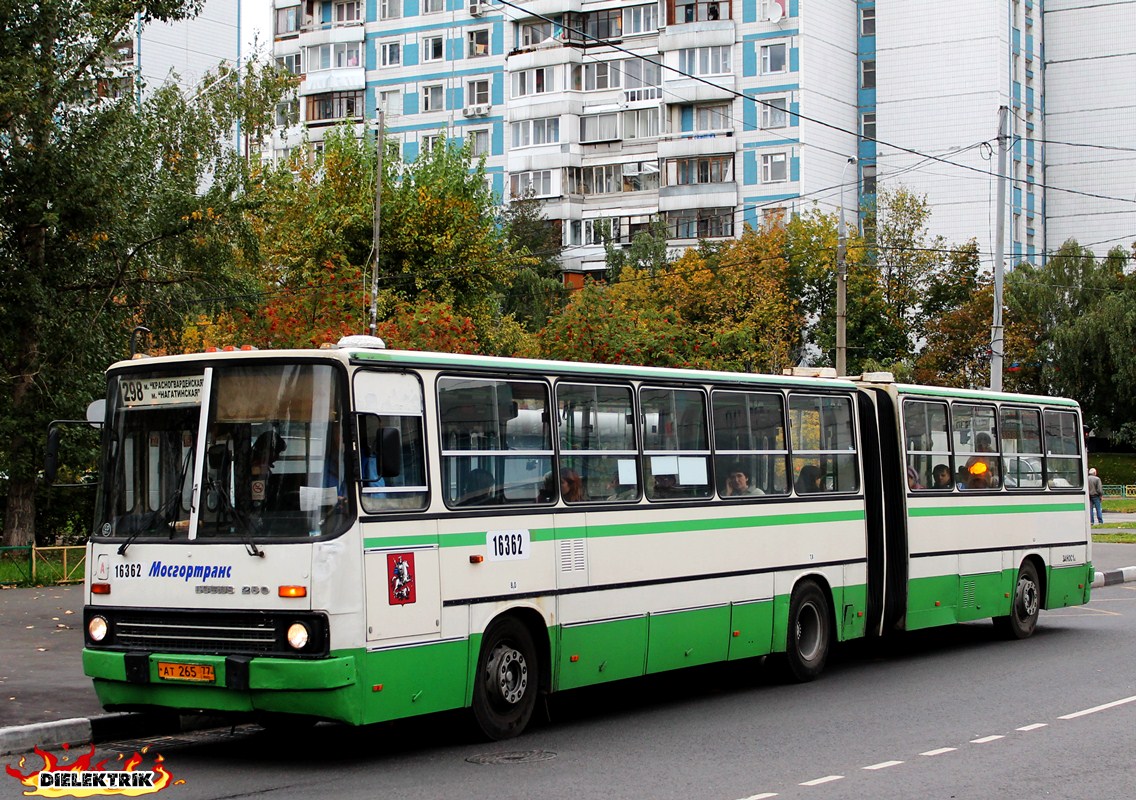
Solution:
<svg viewBox="0 0 1136 800"><path fill-rule="evenodd" d="M1088 601L1069 400L336 348L108 373L108 709L368 724ZM946 478L943 475L946 475Z"/></svg>

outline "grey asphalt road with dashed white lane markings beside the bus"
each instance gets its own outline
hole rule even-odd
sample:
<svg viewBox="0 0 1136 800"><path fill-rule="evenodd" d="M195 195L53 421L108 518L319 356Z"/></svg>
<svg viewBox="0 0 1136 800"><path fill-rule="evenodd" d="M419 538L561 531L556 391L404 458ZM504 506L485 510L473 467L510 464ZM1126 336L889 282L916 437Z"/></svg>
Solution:
<svg viewBox="0 0 1136 800"><path fill-rule="evenodd" d="M1133 665L1136 584L1120 584L1043 612L1022 642L975 623L843 647L807 685L745 664L566 693L503 743L438 715L117 742L97 758L149 744L184 781L162 794L186 800L1130 797ZM0 774L0 798L19 790Z"/></svg>

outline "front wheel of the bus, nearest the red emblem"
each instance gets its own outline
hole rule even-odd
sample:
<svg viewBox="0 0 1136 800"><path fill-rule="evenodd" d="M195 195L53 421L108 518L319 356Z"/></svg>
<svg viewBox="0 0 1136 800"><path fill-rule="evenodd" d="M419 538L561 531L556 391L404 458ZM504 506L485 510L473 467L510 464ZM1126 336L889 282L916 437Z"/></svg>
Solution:
<svg viewBox="0 0 1136 800"><path fill-rule="evenodd" d="M474 718L491 740L510 739L528 725L540 677L533 636L519 619L493 623L482 639L474 677Z"/></svg>

